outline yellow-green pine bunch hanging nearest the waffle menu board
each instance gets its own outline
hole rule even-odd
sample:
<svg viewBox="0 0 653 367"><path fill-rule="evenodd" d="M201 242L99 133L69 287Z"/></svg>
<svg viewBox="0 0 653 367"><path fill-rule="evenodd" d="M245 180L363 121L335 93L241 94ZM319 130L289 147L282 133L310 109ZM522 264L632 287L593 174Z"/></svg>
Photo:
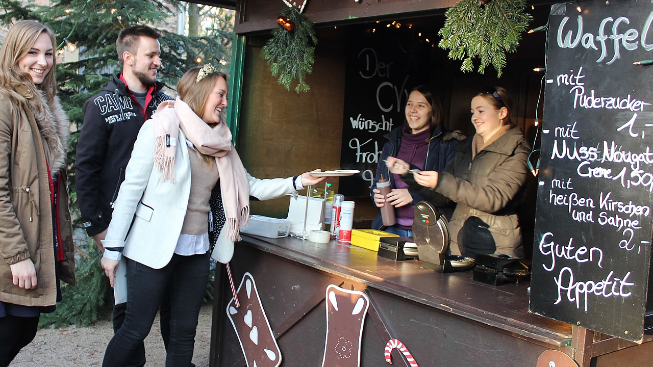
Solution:
<svg viewBox="0 0 653 367"><path fill-rule="evenodd" d="M500 77L505 54L515 52L521 33L533 20L524 12L526 0L460 0L445 12L447 20L438 31L438 46L449 50L449 58L462 60L460 70L473 71L473 58L480 57L478 72L492 65Z"/></svg>

